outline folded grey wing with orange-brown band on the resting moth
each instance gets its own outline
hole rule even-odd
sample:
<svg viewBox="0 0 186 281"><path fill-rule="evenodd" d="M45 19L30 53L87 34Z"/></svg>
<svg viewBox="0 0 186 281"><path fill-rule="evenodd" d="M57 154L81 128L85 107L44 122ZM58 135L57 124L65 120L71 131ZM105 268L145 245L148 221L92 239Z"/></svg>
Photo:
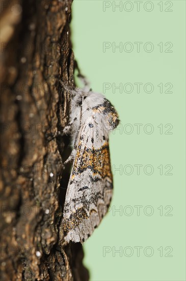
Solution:
<svg viewBox="0 0 186 281"><path fill-rule="evenodd" d="M107 213L113 193L108 140L93 116L84 122L64 206L68 242L84 242Z"/></svg>

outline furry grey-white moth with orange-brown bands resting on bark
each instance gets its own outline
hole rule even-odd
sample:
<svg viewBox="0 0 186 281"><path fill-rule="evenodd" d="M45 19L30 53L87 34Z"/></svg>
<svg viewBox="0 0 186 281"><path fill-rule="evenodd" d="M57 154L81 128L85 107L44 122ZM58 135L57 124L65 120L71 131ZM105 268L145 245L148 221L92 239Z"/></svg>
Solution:
<svg viewBox="0 0 186 281"><path fill-rule="evenodd" d="M64 86L63 82L61 84ZM66 88L66 86L64 86ZM70 90L69 124L73 160L68 182L63 229L65 241L83 243L107 212L113 194L109 133L119 124L113 105L100 93Z"/></svg>

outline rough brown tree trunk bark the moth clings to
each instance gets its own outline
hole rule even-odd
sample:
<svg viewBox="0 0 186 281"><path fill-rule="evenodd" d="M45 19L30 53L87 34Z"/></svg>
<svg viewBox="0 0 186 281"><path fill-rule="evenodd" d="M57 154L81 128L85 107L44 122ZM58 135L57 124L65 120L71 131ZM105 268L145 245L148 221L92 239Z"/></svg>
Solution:
<svg viewBox="0 0 186 281"><path fill-rule="evenodd" d="M81 244L64 245L62 214L73 85L72 0L1 2L2 280L88 280ZM66 143L66 144L65 144Z"/></svg>

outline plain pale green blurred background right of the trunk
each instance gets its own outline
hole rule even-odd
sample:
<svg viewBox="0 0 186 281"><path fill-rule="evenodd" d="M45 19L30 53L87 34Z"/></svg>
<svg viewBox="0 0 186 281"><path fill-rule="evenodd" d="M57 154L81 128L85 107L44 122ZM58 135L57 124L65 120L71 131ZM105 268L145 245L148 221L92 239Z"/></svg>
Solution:
<svg viewBox="0 0 186 281"><path fill-rule="evenodd" d="M84 244L84 264L91 281L185 280L185 2L120 2L72 5L75 58L121 121L110 136L111 208Z"/></svg>

